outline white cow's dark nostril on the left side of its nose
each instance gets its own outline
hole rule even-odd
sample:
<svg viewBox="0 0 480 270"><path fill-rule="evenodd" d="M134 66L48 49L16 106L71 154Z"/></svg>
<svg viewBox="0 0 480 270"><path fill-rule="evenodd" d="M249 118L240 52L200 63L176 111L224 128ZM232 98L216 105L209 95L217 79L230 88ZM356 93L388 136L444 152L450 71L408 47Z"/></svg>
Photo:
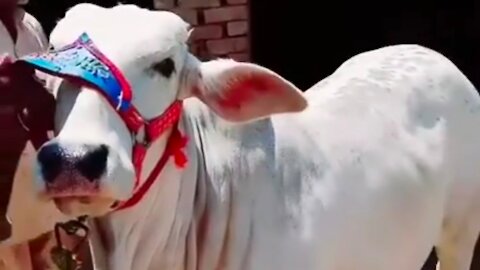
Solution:
<svg viewBox="0 0 480 270"><path fill-rule="evenodd" d="M46 182L53 182L62 169L64 152L57 143L43 146L37 154L41 172Z"/></svg>

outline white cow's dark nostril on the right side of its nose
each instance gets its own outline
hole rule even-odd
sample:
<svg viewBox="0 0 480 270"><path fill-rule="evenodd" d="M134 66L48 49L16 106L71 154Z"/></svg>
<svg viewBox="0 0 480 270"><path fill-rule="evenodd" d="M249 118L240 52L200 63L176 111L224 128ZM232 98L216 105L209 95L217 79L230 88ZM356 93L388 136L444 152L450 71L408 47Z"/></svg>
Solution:
<svg viewBox="0 0 480 270"><path fill-rule="evenodd" d="M89 146L85 155L77 161L77 170L90 181L98 180L107 168L108 146Z"/></svg>

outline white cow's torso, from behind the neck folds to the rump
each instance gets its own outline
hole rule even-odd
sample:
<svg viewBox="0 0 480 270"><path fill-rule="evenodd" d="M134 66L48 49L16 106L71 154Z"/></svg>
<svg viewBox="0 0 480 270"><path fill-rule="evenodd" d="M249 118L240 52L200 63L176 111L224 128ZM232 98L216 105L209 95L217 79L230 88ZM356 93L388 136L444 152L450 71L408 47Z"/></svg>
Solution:
<svg viewBox="0 0 480 270"><path fill-rule="evenodd" d="M350 59L305 95L304 112L242 126L191 101L207 207L230 217L210 229L229 235L226 269L420 269L480 186L474 87L402 45Z"/></svg>

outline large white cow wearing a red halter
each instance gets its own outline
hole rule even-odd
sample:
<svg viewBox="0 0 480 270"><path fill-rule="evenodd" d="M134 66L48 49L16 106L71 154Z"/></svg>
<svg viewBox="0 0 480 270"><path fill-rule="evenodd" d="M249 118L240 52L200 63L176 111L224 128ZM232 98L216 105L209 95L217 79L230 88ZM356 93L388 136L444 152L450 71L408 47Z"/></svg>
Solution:
<svg viewBox="0 0 480 270"><path fill-rule="evenodd" d="M189 26L170 12L80 4L51 42L82 33L130 83L144 119L170 108L136 183L132 151L146 136L116 111L128 107L122 75L115 99L59 82L57 136L39 152L36 184L63 213L98 217L97 269L416 270L433 246L441 270L469 268L480 98L444 56L373 50L302 93L255 64L200 62L187 51ZM171 144L182 142L179 104L186 165Z"/></svg>

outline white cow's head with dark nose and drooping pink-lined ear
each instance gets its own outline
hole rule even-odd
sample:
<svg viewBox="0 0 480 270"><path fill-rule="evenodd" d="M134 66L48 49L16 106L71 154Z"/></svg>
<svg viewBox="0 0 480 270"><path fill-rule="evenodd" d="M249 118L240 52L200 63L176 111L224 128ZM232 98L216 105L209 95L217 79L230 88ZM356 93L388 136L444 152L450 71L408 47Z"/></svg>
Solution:
<svg viewBox="0 0 480 270"><path fill-rule="evenodd" d="M189 97L233 122L306 107L294 85L266 68L200 62L187 49L189 25L170 12L80 4L58 22L51 43L59 49L83 33L129 82L132 105L144 119ZM114 106L91 86L63 79L56 98L56 137L38 153L39 193L65 214L102 215L134 192L134 139Z"/></svg>

